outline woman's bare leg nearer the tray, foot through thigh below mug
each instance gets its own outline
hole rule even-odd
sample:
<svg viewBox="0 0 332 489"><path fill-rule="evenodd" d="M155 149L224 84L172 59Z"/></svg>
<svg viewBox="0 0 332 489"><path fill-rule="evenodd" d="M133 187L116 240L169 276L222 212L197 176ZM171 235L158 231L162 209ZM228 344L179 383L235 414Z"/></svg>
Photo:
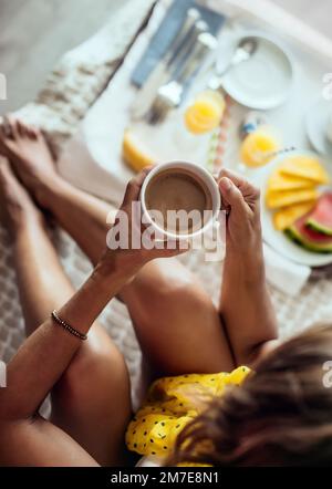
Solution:
<svg viewBox="0 0 332 489"><path fill-rule="evenodd" d="M106 241L110 206L65 183L40 133L12 123L0 152L39 204L50 210L96 263ZM228 371L231 352L218 312L197 280L177 260L148 263L121 293L145 357L156 374Z"/></svg>

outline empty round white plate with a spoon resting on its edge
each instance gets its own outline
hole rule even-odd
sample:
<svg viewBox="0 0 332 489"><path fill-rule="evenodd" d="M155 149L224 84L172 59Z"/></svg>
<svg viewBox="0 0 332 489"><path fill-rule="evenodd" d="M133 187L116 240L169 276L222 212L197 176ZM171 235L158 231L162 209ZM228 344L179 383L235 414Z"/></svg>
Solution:
<svg viewBox="0 0 332 489"><path fill-rule="evenodd" d="M247 37L247 34L246 34ZM273 40L260 34L252 56L231 67L222 77L229 95L251 108L268 110L286 101L293 81L293 65L289 55ZM240 39L237 40L238 44Z"/></svg>

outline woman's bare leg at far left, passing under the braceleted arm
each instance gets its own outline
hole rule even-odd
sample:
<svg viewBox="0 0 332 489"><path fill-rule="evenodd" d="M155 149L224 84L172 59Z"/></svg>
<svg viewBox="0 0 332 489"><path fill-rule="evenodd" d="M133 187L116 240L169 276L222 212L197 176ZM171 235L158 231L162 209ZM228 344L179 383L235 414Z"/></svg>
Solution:
<svg viewBox="0 0 332 489"><path fill-rule="evenodd" d="M30 335L73 294L44 220L7 164L0 166L1 207L14 243L20 298ZM72 364L52 391L52 423L102 465L123 461L123 439L131 416L124 360L95 324Z"/></svg>

